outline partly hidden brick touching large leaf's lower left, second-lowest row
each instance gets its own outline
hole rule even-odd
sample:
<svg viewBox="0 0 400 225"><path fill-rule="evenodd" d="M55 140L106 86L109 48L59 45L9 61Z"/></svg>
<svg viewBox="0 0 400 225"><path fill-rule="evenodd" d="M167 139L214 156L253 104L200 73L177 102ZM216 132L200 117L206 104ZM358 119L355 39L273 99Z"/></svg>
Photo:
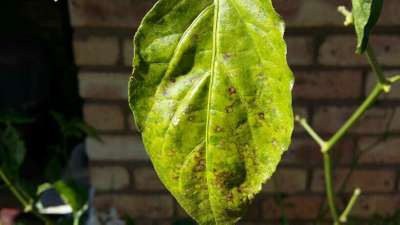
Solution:
<svg viewBox="0 0 400 225"><path fill-rule="evenodd" d="M141 191L166 190L153 168L136 168L133 172L135 187Z"/></svg>

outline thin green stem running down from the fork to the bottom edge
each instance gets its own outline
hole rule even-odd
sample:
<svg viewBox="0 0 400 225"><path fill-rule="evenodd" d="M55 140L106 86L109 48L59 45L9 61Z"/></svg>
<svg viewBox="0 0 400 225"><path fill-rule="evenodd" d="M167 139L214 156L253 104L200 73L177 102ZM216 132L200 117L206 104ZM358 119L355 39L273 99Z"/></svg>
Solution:
<svg viewBox="0 0 400 225"><path fill-rule="evenodd" d="M332 184L333 182L332 182L331 157L329 155L329 152L323 152L322 155L324 157L324 178L325 178L325 189L326 189L326 197L328 199L328 206L335 224L338 224L339 216L335 204L335 191L333 190L333 184Z"/></svg>

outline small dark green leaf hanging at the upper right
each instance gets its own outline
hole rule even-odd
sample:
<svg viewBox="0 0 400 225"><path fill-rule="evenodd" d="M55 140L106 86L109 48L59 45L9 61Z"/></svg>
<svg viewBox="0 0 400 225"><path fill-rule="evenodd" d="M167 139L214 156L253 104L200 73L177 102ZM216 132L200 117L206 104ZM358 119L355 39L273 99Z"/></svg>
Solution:
<svg viewBox="0 0 400 225"><path fill-rule="evenodd" d="M354 26L357 33L357 50L362 54L367 46L372 28L378 22L383 0L352 0Z"/></svg>

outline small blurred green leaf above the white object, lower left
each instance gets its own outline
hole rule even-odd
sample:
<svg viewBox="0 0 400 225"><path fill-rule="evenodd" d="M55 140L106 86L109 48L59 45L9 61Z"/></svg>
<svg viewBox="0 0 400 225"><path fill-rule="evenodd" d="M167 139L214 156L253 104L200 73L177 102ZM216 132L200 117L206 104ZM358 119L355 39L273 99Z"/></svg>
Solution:
<svg viewBox="0 0 400 225"><path fill-rule="evenodd" d="M65 203L71 206L74 213L79 213L85 208L88 201L85 188L72 181L57 181L53 186Z"/></svg>

